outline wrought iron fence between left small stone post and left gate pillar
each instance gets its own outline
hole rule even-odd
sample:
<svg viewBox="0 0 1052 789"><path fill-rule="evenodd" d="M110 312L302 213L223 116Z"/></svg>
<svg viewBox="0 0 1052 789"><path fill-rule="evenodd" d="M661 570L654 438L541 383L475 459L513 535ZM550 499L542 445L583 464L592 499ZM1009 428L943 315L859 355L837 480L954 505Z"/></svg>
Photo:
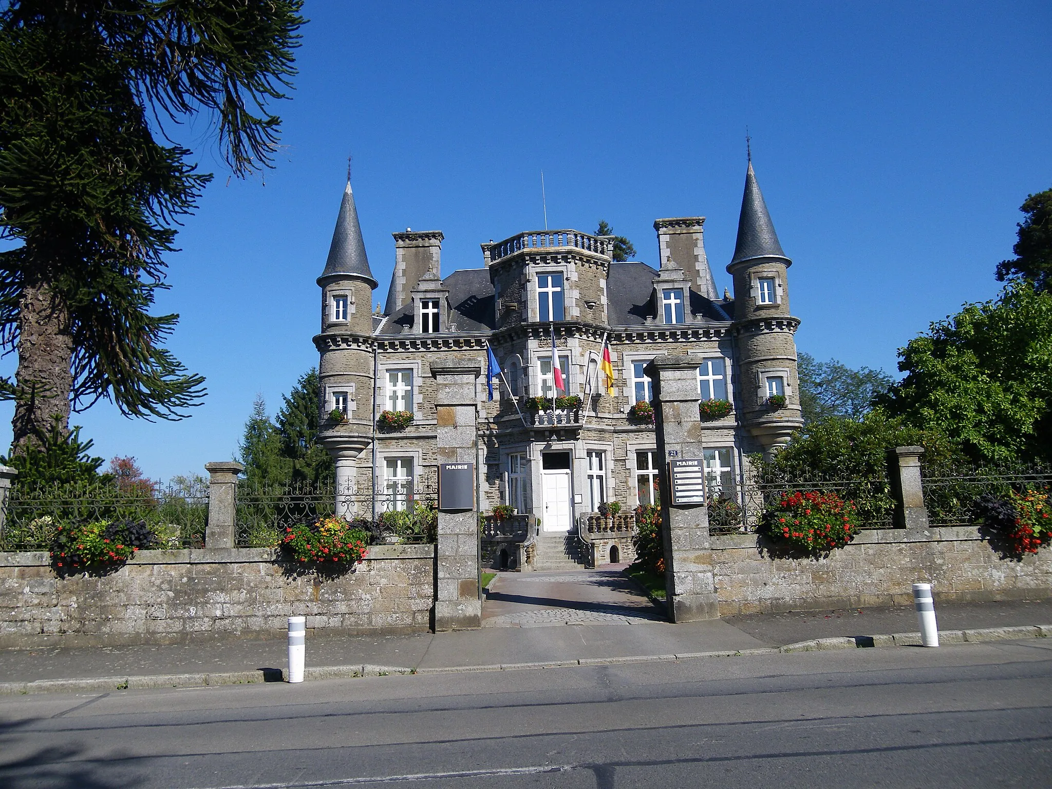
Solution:
<svg viewBox="0 0 1052 789"><path fill-rule="evenodd" d="M372 543L433 543L437 495L431 488L404 486L376 494L333 485L257 487L239 483L235 498L238 547L279 544L286 529L339 515L368 531Z"/></svg>

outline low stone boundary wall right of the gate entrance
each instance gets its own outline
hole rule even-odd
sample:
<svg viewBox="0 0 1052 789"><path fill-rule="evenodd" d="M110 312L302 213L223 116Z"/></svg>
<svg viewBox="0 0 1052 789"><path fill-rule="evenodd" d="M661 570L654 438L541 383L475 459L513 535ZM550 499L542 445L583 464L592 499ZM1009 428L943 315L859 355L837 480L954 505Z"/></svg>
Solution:
<svg viewBox="0 0 1052 789"><path fill-rule="evenodd" d="M824 559L771 549L756 534L712 538L720 615L909 605L918 581L932 584L936 605L1052 596L1052 551L1000 559L976 527L866 530Z"/></svg>

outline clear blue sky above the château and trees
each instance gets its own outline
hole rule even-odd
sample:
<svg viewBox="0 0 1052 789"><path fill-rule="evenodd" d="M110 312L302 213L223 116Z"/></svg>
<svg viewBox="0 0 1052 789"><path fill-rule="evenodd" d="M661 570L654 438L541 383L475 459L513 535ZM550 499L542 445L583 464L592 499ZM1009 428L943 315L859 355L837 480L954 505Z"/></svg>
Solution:
<svg viewBox="0 0 1052 789"><path fill-rule="evenodd" d="M895 371L895 351L993 298L1018 206L1052 186L1052 6L1015 3L507 3L308 0L277 168L228 179L207 123L182 141L216 180L168 258L169 347L207 378L188 420L77 414L98 454L167 479L237 452L315 365L346 158L383 302L390 234L479 244L606 219L656 264L659 217L705 216L719 287L745 130L789 271L800 349ZM5 360L4 373L14 371ZM11 438L0 408L0 444Z"/></svg>

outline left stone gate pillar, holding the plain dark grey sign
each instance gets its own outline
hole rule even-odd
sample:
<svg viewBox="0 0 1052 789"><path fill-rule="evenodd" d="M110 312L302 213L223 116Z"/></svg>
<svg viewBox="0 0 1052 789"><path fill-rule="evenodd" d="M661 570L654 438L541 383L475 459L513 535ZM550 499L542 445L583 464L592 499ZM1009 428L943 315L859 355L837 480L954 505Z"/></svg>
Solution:
<svg viewBox="0 0 1052 789"><path fill-rule="evenodd" d="M438 384L436 418L439 463L478 462L477 381L479 362L431 364ZM479 599L479 505L456 512L439 510L434 630L482 627Z"/></svg>

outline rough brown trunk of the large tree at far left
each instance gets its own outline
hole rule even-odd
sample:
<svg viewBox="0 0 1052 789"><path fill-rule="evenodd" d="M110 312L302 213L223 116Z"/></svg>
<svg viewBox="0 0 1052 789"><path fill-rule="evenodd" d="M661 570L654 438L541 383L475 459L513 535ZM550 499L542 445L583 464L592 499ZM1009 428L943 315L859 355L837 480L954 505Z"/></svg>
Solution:
<svg viewBox="0 0 1052 789"><path fill-rule="evenodd" d="M69 431L73 389L73 335L69 308L46 282L26 284L18 317L18 371L12 451L41 445L59 417L62 434Z"/></svg>

